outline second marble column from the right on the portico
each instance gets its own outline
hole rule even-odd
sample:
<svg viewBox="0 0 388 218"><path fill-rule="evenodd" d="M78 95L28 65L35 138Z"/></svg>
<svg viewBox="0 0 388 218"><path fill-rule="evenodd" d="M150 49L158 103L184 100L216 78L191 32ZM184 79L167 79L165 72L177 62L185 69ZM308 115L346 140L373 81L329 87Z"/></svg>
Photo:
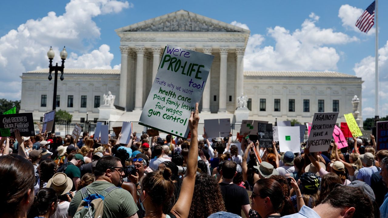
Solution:
<svg viewBox="0 0 388 218"><path fill-rule="evenodd" d="M228 47L220 48L220 95L218 113L226 112L226 87L227 87L227 65L228 65Z"/></svg>

